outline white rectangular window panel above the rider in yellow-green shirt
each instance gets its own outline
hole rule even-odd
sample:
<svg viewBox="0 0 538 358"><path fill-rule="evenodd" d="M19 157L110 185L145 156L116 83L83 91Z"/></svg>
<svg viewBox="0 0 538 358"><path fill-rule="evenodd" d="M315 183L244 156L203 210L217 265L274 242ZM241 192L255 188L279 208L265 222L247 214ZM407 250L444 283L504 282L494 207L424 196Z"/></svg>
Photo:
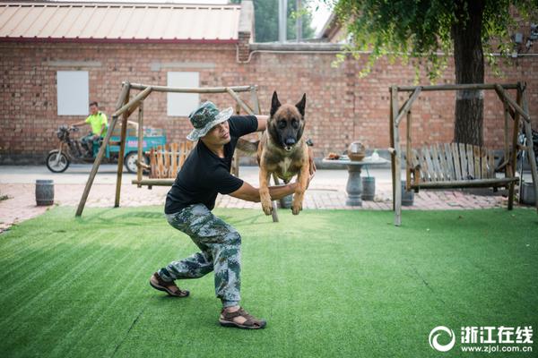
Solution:
<svg viewBox="0 0 538 358"><path fill-rule="evenodd" d="M88 115L87 71L56 72L58 115Z"/></svg>

